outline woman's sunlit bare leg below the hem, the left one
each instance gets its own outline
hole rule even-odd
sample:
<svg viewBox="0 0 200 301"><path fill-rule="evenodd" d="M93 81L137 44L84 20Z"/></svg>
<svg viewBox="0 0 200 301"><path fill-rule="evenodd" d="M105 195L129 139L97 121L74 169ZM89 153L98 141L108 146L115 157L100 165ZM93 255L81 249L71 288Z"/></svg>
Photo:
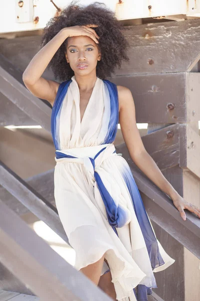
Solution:
<svg viewBox="0 0 200 301"><path fill-rule="evenodd" d="M98 281L100 279L104 256L105 254L103 254L103 256L98 261L80 269L80 271L96 285L98 284Z"/></svg>

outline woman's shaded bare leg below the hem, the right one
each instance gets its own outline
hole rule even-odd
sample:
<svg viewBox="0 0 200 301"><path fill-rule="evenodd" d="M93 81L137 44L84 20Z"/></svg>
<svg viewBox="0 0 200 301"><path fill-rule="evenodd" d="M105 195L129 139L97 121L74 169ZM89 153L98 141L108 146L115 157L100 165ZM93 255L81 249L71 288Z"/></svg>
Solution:
<svg viewBox="0 0 200 301"><path fill-rule="evenodd" d="M107 266L109 267L107 260L104 259ZM114 289L114 284L111 282L112 277L110 271L100 276L98 287L100 287L108 296L110 296L113 300L116 300L116 292ZM116 300L117 301L117 300Z"/></svg>

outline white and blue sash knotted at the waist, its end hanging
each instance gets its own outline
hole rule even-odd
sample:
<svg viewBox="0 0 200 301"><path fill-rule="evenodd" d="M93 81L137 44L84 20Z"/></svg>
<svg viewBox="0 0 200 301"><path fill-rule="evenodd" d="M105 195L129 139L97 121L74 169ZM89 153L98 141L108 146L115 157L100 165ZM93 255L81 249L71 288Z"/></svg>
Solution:
<svg viewBox="0 0 200 301"><path fill-rule="evenodd" d="M92 185L96 182L112 228L121 228L130 222L130 211L117 184L121 179L116 181L111 173L101 167L101 163L108 157L121 155L116 154L113 143L56 150L55 155L56 164L74 162L85 167Z"/></svg>

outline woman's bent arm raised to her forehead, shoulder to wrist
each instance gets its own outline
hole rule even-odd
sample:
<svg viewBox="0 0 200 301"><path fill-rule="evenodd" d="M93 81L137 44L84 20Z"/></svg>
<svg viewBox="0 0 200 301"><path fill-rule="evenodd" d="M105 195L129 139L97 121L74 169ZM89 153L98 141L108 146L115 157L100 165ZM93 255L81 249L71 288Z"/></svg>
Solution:
<svg viewBox="0 0 200 301"><path fill-rule="evenodd" d="M53 105L59 83L41 77L53 55L68 37L67 30L60 30L32 58L22 75L26 88L34 95L46 99Z"/></svg>

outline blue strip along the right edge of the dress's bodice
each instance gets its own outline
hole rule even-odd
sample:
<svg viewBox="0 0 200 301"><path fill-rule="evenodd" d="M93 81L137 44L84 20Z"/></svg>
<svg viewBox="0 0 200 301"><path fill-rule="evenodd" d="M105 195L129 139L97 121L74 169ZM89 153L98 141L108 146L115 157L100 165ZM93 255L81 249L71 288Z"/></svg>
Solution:
<svg viewBox="0 0 200 301"><path fill-rule="evenodd" d="M104 79L110 97L110 118L107 133L102 144L112 143L115 139L118 125L118 92L116 85Z"/></svg>

